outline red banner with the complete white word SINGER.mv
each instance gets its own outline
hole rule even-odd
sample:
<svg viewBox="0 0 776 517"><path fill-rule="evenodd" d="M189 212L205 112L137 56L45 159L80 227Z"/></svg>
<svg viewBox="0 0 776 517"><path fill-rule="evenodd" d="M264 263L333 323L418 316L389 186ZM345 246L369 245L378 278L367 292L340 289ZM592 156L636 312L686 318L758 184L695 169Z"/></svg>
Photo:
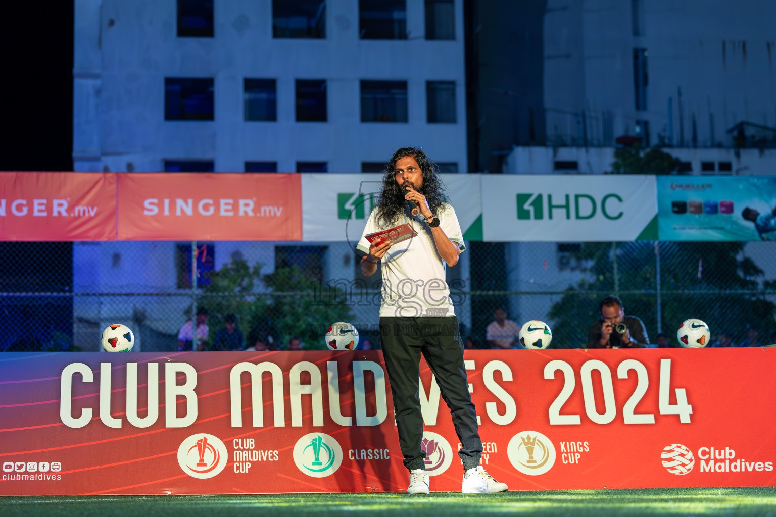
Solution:
<svg viewBox="0 0 776 517"><path fill-rule="evenodd" d="M119 240L301 240L299 174L119 174Z"/></svg>

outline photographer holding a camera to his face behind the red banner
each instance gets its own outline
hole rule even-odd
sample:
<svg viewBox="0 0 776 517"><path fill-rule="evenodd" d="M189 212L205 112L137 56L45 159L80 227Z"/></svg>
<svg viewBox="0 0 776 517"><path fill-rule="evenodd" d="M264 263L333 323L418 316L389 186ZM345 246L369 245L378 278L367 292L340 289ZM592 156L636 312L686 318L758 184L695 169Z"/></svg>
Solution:
<svg viewBox="0 0 776 517"><path fill-rule="evenodd" d="M622 300L607 296L598 304L601 319L587 333L587 348L649 348L644 323L636 316L626 316Z"/></svg>

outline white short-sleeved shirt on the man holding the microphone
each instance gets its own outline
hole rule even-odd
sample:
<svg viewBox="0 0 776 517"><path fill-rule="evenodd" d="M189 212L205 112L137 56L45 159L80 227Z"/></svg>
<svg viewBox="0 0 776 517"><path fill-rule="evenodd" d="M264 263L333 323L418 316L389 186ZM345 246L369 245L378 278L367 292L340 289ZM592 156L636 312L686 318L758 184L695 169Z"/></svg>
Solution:
<svg viewBox="0 0 776 517"><path fill-rule="evenodd" d="M383 297L380 302L381 318L413 318L417 316L452 316L455 309L450 300L450 289L445 281L445 261L440 257L431 228L418 221L407 211L386 227L378 226L378 210L372 210L364 233L356 246L369 253L366 236L408 222L417 236L395 243L380 260L383 275ZM461 226L452 206L442 204L435 215L439 227L449 240L457 243L459 251L466 250Z"/></svg>

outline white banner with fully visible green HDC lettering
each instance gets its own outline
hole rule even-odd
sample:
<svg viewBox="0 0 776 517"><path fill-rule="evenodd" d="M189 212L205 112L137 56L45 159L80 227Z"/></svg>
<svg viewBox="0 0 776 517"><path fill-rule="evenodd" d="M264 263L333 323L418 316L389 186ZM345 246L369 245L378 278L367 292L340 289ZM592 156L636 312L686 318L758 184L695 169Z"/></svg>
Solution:
<svg viewBox="0 0 776 517"><path fill-rule="evenodd" d="M654 176L485 174L483 240L657 239Z"/></svg>

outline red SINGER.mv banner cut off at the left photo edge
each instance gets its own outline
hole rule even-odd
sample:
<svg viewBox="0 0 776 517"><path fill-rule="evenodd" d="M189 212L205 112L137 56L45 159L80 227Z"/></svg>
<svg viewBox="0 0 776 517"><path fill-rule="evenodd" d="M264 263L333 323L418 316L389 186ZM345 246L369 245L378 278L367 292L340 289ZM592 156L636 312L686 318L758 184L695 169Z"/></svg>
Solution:
<svg viewBox="0 0 776 517"><path fill-rule="evenodd" d="M115 239L115 174L0 172L0 240Z"/></svg>

